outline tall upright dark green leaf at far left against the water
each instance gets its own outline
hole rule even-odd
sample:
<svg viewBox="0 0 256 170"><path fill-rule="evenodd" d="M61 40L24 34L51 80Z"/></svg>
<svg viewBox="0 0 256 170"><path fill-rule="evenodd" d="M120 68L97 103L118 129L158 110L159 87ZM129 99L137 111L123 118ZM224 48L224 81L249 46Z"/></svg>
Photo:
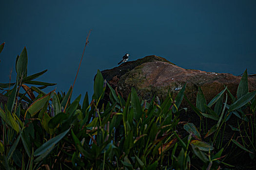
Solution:
<svg viewBox="0 0 256 170"><path fill-rule="evenodd" d="M27 64L28 64L28 56L27 56L27 49L24 47L22 52L20 53L20 57L18 57L16 71L17 76L20 79L24 79L27 77Z"/></svg>

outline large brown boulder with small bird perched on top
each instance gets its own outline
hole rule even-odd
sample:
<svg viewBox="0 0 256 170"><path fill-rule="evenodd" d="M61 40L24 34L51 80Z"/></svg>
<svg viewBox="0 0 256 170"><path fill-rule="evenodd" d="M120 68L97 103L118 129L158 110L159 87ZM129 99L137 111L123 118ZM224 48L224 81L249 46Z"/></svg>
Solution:
<svg viewBox="0 0 256 170"><path fill-rule="evenodd" d="M147 101L150 101L154 95L164 99L169 89L176 96L186 82L185 94L194 105L196 105L199 86L208 103L224 89L224 85L227 85L231 93L236 96L241 79L240 76L229 73L180 68L155 55L126 62L116 68L103 70L101 73L103 78L114 89L117 88L124 98L128 97L131 87L134 87L142 99ZM248 86L249 91L256 90L256 77L248 77Z"/></svg>

